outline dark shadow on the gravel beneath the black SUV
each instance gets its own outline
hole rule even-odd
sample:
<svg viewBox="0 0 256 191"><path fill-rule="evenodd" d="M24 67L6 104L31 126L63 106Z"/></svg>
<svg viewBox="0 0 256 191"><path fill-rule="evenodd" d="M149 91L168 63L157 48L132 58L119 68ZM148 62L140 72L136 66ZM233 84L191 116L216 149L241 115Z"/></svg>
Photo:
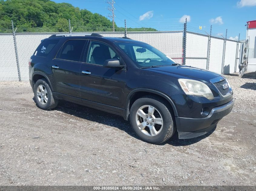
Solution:
<svg viewBox="0 0 256 191"><path fill-rule="evenodd" d="M35 101L34 97L33 97L33 100ZM130 123L128 121L126 121L125 119L123 119L121 116L114 115L114 114L107 113L107 112L100 111L100 110L96 110L96 109L93 109L90 107L82 106L82 105L79 105L76 103L71 103L71 102L64 101L64 100L60 100L58 103L58 107L56 107L54 110L66 113L70 118L72 116L76 116L81 119L86 119L86 120L93 121L96 123L101 123L104 125L116 127L118 129L126 132L128 135L139 139L139 137L131 129ZM169 144L169 145L172 145L175 147L191 145L191 144L199 142L202 139L208 137L209 135L211 135L212 132L214 132L215 129L216 129L216 127L212 131L208 132L205 135L202 135L197 138L191 138L191 139L179 139L178 133L176 131L170 140L168 140L167 142L162 143L160 145Z"/></svg>

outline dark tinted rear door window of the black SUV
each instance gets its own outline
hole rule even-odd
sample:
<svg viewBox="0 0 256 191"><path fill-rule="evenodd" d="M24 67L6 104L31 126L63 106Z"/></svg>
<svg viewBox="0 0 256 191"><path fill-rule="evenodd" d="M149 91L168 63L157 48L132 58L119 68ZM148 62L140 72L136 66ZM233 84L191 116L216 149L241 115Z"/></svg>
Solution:
<svg viewBox="0 0 256 191"><path fill-rule="evenodd" d="M62 47L59 59L80 61L85 40L68 40Z"/></svg>

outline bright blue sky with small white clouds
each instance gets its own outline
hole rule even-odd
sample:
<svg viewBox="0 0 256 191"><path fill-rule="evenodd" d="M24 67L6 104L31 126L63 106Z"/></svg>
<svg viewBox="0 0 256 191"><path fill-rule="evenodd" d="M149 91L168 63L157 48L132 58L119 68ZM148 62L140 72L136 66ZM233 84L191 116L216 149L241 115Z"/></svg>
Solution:
<svg viewBox="0 0 256 191"><path fill-rule="evenodd" d="M107 0L55 0L107 16ZM111 0L110 0L111 1ZM245 39L246 21L256 20L256 0L115 0L115 23L119 27L153 27L157 30L182 30L183 19L188 19L188 30L210 31L215 35ZM185 15L185 16L184 16ZM202 30L199 29L202 26Z"/></svg>

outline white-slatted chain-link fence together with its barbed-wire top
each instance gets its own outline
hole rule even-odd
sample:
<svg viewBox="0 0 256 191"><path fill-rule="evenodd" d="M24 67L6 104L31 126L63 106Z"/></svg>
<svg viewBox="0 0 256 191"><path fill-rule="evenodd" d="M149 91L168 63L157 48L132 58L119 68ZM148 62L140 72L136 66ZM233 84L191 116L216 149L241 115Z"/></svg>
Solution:
<svg viewBox="0 0 256 191"><path fill-rule="evenodd" d="M152 31L154 26L156 25L148 24L147 27L143 28L144 31L141 31L138 26L136 31L136 28L128 25L116 27L116 32L112 32L112 26L99 26L96 23L83 26L80 22L71 22L72 32L78 33L78 35L79 32L96 32L107 37L124 37L125 27L127 27L127 37L155 46L177 63L186 63L186 65L209 69L218 73L236 71L236 63L239 59L237 53L240 47L237 45L239 44L238 41L229 40L228 36L225 41L222 34L212 33L206 28L200 30L190 24L184 25L177 21L162 28L159 25L158 27L163 29L162 31ZM0 46L4 47L0 53L0 81L27 81L28 59L41 40L52 34L70 32L69 26L59 27L58 29L48 27L16 28L15 23L13 29L11 24L6 24L6 27L1 27L0 30L5 31L5 33L0 33ZM224 45L226 49L224 49ZM26 49L23 47L26 47ZM17 59L15 59L15 52L17 53ZM210 56L211 60L209 60ZM223 56L225 59L221 60ZM12 72L5 68L12 68Z"/></svg>

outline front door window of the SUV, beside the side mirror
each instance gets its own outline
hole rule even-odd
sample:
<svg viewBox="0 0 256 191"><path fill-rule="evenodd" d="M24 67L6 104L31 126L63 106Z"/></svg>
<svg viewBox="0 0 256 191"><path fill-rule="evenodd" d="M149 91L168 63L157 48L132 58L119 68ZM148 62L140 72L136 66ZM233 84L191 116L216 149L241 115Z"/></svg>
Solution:
<svg viewBox="0 0 256 191"><path fill-rule="evenodd" d="M109 46L99 42L91 42L86 62L103 65L108 59L119 59L119 57Z"/></svg>

